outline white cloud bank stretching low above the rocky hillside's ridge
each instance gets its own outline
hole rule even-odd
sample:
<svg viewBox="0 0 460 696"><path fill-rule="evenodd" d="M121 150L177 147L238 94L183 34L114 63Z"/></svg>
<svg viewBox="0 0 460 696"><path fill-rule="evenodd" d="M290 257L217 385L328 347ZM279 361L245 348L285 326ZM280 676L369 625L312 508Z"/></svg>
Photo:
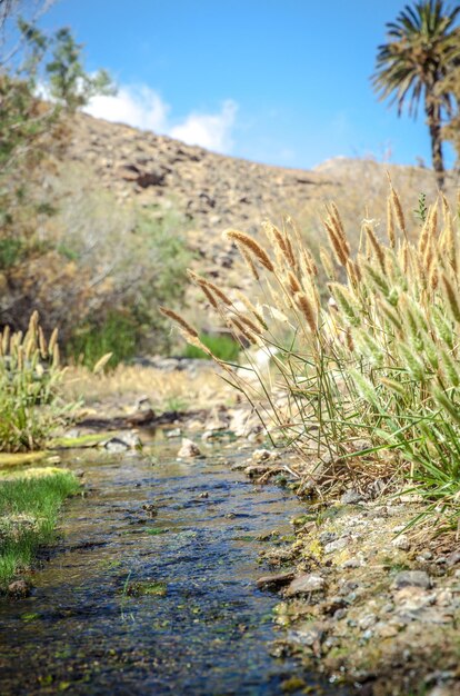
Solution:
<svg viewBox="0 0 460 696"><path fill-rule="evenodd" d="M171 107L154 90L147 86L122 86L114 97L94 97L84 110L96 118L153 130L188 145L228 153L233 146L238 105L228 99L217 113L192 111L183 121L173 122L169 118Z"/></svg>

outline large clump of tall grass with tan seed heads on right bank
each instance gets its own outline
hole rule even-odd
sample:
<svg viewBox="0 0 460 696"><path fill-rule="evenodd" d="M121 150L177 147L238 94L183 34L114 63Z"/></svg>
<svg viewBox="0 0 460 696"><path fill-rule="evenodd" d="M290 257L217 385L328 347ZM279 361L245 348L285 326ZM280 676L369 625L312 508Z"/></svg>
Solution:
<svg viewBox="0 0 460 696"><path fill-rule="evenodd" d="M427 511L454 526L460 513L458 216L441 197L412 242L390 187L387 243L376 221L367 219L353 258L333 205L324 227L327 306L317 265L296 228L266 226L271 255L248 235L227 232L258 278L258 301L247 297L241 309L210 281L193 280L212 296L241 345L254 344L273 367L262 369L248 351L251 380L248 370L241 375L216 359L273 432L282 432L306 460L321 463L319 493L349 477L367 488L376 478L398 476L427 501ZM211 352L192 327L167 314L189 342Z"/></svg>

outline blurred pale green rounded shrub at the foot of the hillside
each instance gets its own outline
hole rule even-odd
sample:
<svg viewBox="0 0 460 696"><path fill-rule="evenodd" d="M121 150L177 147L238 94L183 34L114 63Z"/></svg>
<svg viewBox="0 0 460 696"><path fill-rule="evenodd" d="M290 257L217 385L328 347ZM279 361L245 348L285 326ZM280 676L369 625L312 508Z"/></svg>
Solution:
<svg viewBox="0 0 460 696"><path fill-rule="evenodd" d="M69 314L67 302L59 317L52 307L42 311L62 327L68 355L78 361L82 354L84 365L91 367L110 351L114 367L144 350L167 348L170 339L156 304L183 298L190 255L180 235L182 218L173 210L158 219L156 211L122 207L97 187L91 192L80 190L76 198L70 195L66 202L50 238L57 233L61 251L79 259L78 266L68 262L79 274L81 301L73 305L74 314ZM62 298L74 288L66 284ZM56 290L51 297L57 309Z"/></svg>

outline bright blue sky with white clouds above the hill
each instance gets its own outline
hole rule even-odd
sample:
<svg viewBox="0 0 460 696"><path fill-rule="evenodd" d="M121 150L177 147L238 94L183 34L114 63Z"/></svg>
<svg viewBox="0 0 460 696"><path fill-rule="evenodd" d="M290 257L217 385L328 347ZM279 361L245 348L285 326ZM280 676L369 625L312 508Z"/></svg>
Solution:
<svg viewBox="0 0 460 696"><path fill-rule="evenodd" d="M378 101L377 47L400 0L60 0L88 70L119 86L91 112L247 159L311 168L337 156L430 163L417 121ZM453 156L447 148L447 163Z"/></svg>

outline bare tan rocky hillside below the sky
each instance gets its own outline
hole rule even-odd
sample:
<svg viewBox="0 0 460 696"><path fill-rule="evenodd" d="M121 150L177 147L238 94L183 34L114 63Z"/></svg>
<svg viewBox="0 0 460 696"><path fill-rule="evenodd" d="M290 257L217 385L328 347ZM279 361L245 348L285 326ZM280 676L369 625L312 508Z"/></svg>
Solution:
<svg viewBox="0 0 460 696"><path fill-rule="evenodd" d="M363 217L384 215L387 169L407 209L417 207L420 192L428 200L436 195L432 172L422 168L337 158L312 171L283 169L86 115L76 117L71 131L69 160L92 172L119 201L137 201L157 217L177 209L190 223L188 242L199 252L201 269L214 276L234 260L221 239L226 228L254 232L262 219L280 222L289 213L317 243L323 205L333 199L356 239ZM452 190L454 183L451 177Z"/></svg>

